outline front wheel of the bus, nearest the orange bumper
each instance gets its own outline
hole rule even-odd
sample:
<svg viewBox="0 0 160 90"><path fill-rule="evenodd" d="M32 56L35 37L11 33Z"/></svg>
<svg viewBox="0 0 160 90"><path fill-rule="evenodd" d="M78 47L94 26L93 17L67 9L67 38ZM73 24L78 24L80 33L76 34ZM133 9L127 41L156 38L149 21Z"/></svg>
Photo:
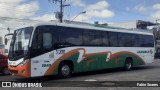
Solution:
<svg viewBox="0 0 160 90"><path fill-rule="evenodd" d="M58 74L60 78L70 77L72 74L71 65L69 65L68 63L61 63L58 68Z"/></svg>

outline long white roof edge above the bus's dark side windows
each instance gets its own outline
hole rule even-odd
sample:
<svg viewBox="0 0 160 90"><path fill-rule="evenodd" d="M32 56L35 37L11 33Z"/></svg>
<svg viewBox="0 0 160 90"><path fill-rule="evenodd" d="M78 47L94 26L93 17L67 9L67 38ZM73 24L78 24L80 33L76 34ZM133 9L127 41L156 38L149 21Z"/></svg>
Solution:
<svg viewBox="0 0 160 90"><path fill-rule="evenodd" d="M113 32L124 32L124 33L135 33L135 34L146 34L146 35L153 35L152 31L141 30L141 29L125 29L125 28L115 28L115 27L99 27L95 24L91 25L77 25L77 24L66 24L66 23L59 23L59 22L43 22L34 24L34 27L41 26L41 25L54 25L54 26L62 26L62 27L72 27L72 28L81 28L81 29L94 29L94 30L101 30L101 31L113 31Z"/></svg>

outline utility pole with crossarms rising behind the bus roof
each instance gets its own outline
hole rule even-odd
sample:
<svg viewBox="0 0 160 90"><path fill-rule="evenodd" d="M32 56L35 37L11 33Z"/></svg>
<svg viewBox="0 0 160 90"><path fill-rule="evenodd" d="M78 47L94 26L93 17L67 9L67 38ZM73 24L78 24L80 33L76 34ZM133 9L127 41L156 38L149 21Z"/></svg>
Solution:
<svg viewBox="0 0 160 90"><path fill-rule="evenodd" d="M70 6L70 4L64 4L64 2L66 0L48 0L49 2L53 2L53 3L57 3L59 2L60 3L60 12L56 12L56 18L59 19L60 23L63 22L63 8L66 7L66 6Z"/></svg>

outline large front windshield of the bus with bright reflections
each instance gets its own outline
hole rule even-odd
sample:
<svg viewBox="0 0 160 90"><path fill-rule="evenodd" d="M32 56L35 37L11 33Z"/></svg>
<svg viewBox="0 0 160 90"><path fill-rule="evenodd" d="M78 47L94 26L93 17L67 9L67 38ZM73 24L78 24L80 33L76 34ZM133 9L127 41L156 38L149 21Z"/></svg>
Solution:
<svg viewBox="0 0 160 90"><path fill-rule="evenodd" d="M32 33L33 27L26 27L15 30L9 51L9 59L17 60L28 52L29 39Z"/></svg>

